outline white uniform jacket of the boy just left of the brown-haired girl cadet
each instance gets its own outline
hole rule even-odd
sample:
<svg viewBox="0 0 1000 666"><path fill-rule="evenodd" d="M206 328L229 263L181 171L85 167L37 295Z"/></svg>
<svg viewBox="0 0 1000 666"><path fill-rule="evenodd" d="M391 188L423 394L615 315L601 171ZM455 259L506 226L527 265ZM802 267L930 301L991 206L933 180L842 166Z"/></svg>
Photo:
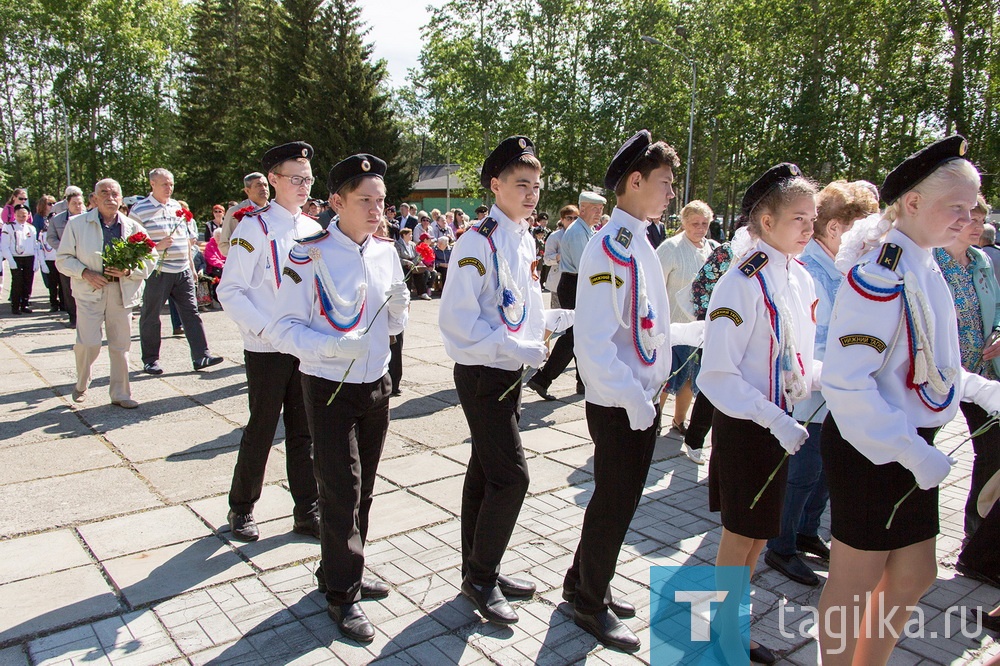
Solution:
<svg viewBox="0 0 1000 666"><path fill-rule="evenodd" d="M670 302L660 260L646 238L646 224L620 208L611 211L611 220L583 250L576 288L573 351L587 402L624 408L630 421L644 404L658 399L670 374ZM633 270L612 261L606 243L620 257L635 259L642 271L654 315L652 328L645 330L654 337L663 336L652 364L641 359L633 335L634 327L641 326L634 317Z"/></svg>

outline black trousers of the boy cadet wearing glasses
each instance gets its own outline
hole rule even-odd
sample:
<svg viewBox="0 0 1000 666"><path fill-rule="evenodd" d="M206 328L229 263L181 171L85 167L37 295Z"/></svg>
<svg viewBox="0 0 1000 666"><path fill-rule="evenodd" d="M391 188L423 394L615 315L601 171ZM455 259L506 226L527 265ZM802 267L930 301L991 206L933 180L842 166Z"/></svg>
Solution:
<svg viewBox="0 0 1000 666"><path fill-rule="evenodd" d="M240 452L229 489L229 508L252 513L264 487L267 457L274 444L278 417L284 411L285 469L295 501L295 519L305 520L319 498L313 473L312 437L302 399L299 359L278 352L243 352L247 370L250 420L243 429Z"/></svg>

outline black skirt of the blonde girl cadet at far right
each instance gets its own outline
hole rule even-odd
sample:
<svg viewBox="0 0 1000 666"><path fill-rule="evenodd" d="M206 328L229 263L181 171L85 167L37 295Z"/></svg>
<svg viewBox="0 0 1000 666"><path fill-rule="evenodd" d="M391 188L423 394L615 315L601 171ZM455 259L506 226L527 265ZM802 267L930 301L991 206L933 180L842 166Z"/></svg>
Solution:
<svg viewBox="0 0 1000 666"><path fill-rule="evenodd" d="M937 428L919 428L934 446ZM917 488L886 528L893 505L916 484L913 473L898 462L876 465L840 434L828 415L820 440L823 470L830 487L830 532L858 550L887 551L933 539L939 530L938 489Z"/></svg>

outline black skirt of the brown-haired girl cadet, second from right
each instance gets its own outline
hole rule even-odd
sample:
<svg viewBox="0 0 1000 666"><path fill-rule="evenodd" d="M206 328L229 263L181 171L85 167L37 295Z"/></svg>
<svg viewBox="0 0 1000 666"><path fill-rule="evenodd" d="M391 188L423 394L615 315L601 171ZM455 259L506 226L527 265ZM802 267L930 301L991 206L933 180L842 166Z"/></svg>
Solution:
<svg viewBox="0 0 1000 666"><path fill-rule="evenodd" d="M751 539L770 539L781 534L787 461L753 509L750 505L784 454L785 450L767 428L715 410L712 457L708 463L708 508L722 512L723 527Z"/></svg>

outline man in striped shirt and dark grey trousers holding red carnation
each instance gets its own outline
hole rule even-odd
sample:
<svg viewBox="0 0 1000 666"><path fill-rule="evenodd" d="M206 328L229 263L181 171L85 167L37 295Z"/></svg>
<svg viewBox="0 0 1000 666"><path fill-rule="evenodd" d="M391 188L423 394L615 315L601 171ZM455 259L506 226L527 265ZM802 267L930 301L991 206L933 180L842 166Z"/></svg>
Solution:
<svg viewBox="0 0 1000 666"><path fill-rule="evenodd" d="M149 186L149 196L136 201L129 213L146 228L160 254L156 270L146 279L139 314L142 369L150 375L163 374L160 367L160 312L167 298L171 297L177 305L191 348L191 362L195 370L202 370L222 363L222 357L213 356L208 351L205 326L198 314L190 264L191 231L180 204L171 198L174 193L173 174L166 169L153 169L149 172Z"/></svg>

